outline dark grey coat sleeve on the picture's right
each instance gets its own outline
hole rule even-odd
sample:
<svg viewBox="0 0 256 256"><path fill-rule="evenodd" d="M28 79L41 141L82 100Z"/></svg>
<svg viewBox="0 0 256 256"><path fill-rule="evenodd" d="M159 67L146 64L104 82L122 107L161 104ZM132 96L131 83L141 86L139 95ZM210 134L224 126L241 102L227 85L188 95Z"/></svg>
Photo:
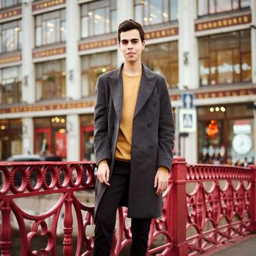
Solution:
<svg viewBox="0 0 256 256"><path fill-rule="evenodd" d="M160 84L160 115L158 130L158 162L157 166L165 166L171 170L173 160L173 146L175 126L173 122L173 110L170 104L170 96L165 78L159 78Z"/></svg>

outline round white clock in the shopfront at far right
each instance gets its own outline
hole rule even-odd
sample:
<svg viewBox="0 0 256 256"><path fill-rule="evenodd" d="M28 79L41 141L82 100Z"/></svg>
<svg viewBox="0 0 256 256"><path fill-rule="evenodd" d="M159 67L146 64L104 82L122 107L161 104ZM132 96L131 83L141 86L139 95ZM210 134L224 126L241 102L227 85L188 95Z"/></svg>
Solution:
<svg viewBox="0 0 256 256"><path fill-rule="evenodd" d="M252 140L249 135L238 134L233 138L232 146L237 154L247 154L252 148Z"/></svg>

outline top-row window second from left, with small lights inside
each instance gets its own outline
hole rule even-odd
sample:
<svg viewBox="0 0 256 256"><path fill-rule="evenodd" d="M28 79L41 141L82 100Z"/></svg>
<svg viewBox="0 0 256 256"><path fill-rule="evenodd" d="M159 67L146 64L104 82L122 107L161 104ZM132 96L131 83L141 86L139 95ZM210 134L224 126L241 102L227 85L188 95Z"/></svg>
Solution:
<svg viewBox="0 0 256 256"><path fill-rule="evenodd" d="M36 16L36 46L66 41L66 10Z"/></svg>

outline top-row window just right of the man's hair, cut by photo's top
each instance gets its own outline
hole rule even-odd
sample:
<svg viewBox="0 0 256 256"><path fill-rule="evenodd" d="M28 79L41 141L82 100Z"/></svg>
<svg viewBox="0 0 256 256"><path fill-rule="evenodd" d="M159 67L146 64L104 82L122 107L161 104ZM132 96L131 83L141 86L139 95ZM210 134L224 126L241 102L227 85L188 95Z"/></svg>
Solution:
<svg viewBox="0 0 256 256"><path fill-rule="evenodd" d="M134 1L135 20L144 26L177 20L178 0Z"/></svg>

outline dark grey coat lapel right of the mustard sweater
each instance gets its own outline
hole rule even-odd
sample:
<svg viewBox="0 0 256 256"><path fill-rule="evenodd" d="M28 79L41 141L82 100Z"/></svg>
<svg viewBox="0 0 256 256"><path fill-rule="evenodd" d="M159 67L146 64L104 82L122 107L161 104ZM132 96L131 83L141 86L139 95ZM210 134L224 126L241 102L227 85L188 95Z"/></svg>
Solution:
<svg viewBox="0 0 256 256"><path fill-rule="evenodd" d="M152 94L155 84L157 83L157 75L154 75L154 73L151 72L151 70L148 69L144 64L142 64L142 67L143 72L140 80L140 89L138 92L134 118L146 104L148 98Z"/></svg>

